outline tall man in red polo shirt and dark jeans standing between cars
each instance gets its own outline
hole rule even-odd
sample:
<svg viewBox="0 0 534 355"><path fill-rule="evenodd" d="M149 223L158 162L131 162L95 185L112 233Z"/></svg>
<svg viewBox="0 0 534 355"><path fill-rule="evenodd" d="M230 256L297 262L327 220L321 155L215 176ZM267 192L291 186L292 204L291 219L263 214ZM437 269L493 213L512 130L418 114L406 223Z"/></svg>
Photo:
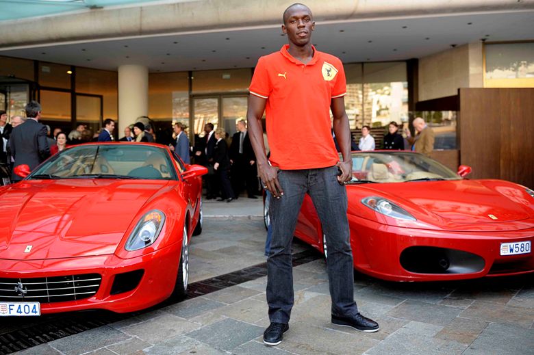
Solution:
<svg viewBox="0 0 534 355"><path fill-rule="evenodd" d="M379 325L358 312L353 295L353 254L346 216L344 183L351 180L351 138L345 112L345 74L341 61L312 46L312 11L296 3L283 13L288 42L259 58L249 88L249 133L259 176L272 193L272 241L267 259L270 326L264 343L278 345L293 306L291 241L305 194L312 198L326 235L332 322L364 332ZM270 164L262 136L266 110ZM343 161L331 135L338 139ZM309 134L296 135L306 127ZM313 132L313 134L312 134Z"/></svg>

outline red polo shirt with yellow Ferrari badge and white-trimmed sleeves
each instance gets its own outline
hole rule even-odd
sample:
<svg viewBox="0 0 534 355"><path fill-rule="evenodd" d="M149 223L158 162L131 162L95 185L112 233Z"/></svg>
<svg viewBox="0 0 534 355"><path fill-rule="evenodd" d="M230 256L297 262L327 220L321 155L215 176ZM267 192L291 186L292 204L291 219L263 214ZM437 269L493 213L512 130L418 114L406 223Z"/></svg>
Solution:
<svg viewBox="0 0 534 355"><path fill-rule="evenodd" d="M346 94L343 64L317 51L307 64L285 44L260 57L251 94L267 99L266 124L270 162L283 170L334 166L339 161L331 134L331 99Z"/></svg>

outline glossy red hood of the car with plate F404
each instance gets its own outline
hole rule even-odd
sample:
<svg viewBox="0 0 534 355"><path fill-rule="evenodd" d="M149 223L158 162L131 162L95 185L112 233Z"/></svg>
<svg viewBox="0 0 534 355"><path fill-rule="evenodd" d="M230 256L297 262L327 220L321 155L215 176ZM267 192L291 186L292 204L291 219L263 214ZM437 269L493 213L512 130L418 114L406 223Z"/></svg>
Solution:
<svg viewBox="0 0 534 355"><path fill-rule="evenodd" d="M168 181L22 181L0 192L0 259L114 253L142 206Z"/></svg>

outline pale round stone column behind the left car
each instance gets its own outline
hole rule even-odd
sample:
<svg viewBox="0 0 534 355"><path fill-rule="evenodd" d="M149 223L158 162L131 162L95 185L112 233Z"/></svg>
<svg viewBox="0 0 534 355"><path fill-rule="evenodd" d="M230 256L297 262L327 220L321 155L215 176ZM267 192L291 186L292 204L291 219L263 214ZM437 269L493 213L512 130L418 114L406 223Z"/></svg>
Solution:
<svg viewBox="0 0 534 355"><path fill-rule="evenodd" d="M118 67L118 137L139 116L149 116L149 68L142 65Z"/></svg>

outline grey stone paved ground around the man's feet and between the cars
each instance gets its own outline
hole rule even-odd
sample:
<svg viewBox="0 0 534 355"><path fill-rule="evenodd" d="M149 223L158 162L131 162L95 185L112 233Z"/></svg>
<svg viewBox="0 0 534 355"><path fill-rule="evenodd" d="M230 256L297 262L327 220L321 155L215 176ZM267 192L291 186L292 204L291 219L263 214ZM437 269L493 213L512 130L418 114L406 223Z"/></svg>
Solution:
<svg viewBox="0 0 534 355"><path fill-rule="evenodd" d="M221 218L220 203L205 203L212 218L192 240L192 282L264 262L261 202L236 203L244 214L233 220ZM295 251L305 248L294 243ZM360 311L381 325L362 333L330 323L325 271L322 259L294 268L290 330L277 347L262 343L268 318L266 278L259 278L21 354L534 354L532 276L395 283L356 274Z"/></svg>

